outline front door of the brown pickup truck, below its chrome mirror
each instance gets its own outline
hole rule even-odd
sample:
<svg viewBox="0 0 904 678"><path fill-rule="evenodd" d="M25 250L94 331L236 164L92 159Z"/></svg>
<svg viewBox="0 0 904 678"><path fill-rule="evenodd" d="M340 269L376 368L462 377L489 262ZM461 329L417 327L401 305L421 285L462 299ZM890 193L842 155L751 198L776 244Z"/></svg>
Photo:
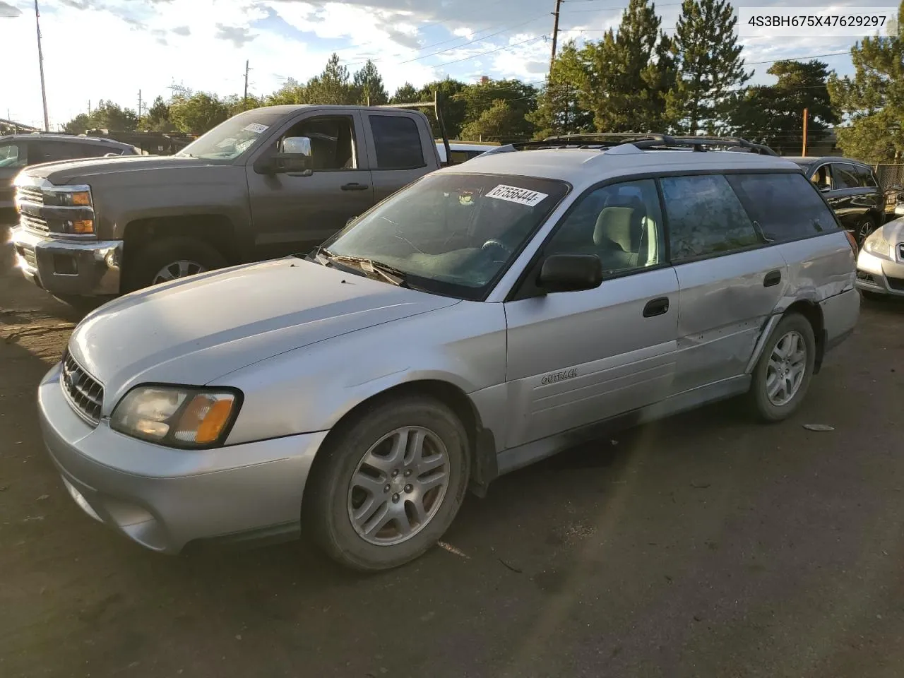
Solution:
<svg viewBox="0 0 904 678"><path fill-rule="evenodd" d="M287 137L311 141L313 173L258 174ZM295 118L246 166L258 259L306 253L373 205L361 116L319 109Z"/></svg>

